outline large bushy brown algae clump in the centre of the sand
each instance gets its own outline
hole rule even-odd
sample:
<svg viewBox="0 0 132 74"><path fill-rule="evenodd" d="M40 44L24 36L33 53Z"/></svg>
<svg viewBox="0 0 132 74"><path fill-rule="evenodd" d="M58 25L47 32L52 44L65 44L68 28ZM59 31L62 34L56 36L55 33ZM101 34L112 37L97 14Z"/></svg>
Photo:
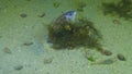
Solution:
<svg viewBox="0 0 132 74"><path fill-rule="evenodd" d="M75 23L52 23L48 26L48 38L55 49L96 48L100 45L101 35L92 22L79 18Z"/></svg>

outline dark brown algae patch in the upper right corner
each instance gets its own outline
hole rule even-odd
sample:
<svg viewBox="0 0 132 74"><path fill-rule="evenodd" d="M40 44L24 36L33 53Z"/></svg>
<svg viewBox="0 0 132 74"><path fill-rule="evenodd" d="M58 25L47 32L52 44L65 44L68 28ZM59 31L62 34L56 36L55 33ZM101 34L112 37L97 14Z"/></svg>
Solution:
<svg viewBox="0 0 132 74"><path fill-rule="evenodd" d="M119 2L102 3L103 14L116 15L125 20L132 18L132 1L120 0Z"/></svg>

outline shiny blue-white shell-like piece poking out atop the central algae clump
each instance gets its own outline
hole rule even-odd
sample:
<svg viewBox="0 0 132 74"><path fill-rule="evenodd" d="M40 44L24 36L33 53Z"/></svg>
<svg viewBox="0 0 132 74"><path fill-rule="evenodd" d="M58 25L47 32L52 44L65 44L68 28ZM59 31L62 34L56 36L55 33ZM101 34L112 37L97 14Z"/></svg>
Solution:
<svg viewBox="0 0 132 74"><path fill-rule="evenodd" d="M55 21L55 23L62 23L62 22L73 22L76 16L76 11L68 11L66 13L63 13L61 16L58 16Z"/></svg>

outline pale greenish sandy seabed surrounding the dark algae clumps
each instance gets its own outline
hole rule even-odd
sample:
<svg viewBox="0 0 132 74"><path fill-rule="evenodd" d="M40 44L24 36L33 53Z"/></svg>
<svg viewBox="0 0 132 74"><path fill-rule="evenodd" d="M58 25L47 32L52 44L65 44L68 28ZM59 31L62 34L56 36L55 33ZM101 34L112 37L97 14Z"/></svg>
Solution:
<svg viewBox="0 0 132 74"><path fill-rule="evenodd" d="M86 7L77 11L77 17L92 21L102 34L101 44L113 53L106 57L90 50L89 54L97 63L116 59L118 53L127 61L91 65L81 51L85 48L54 50L47 44L47 25L62 12L76 10L81 1ZM131 74L132 22L103 15L102 2L109 1L0 0L0 74Z"/></svg>

